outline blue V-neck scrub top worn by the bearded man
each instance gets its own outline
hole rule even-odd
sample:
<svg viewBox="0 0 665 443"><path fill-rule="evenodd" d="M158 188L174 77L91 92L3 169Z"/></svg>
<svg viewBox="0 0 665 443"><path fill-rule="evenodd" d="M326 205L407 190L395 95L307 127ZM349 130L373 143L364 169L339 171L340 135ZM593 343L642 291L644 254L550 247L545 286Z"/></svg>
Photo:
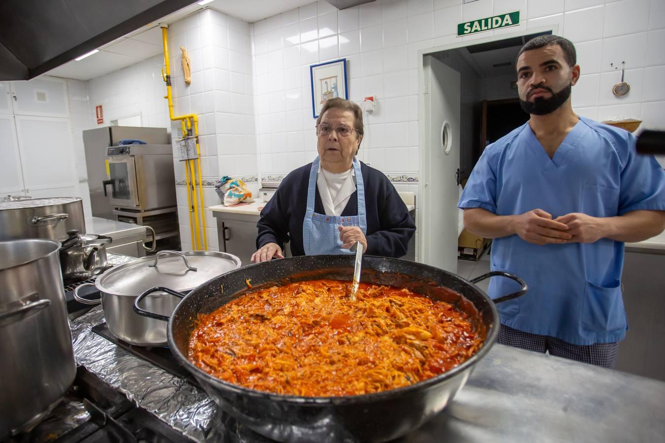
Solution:
<svg viewBox="0 0 665 443"><path fill-rule="evenodd" d="M630 132L580 118L550 159L524 124L485 148L458 207L496 215L543 209L553 219L665 211L665 172L634 147ZM623 260L624 244L608 238L543 246L517 235L495 238L491 270L510 272L529 285L525 296L497 305L501 323L577 345L622 339L628 329ZM497 298L518 289L507 278L493 277L488 292Z"/></svg>

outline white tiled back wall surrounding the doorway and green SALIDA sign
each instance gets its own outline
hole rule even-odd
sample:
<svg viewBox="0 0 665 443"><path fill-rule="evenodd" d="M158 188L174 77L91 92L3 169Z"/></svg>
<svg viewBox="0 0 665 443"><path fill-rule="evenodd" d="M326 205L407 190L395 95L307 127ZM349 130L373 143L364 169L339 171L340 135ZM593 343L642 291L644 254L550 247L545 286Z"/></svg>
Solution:
<svg viewBox="0 0 665 443"><path fill-rule="evenodd" d="M663 106L652 102L665 100L659 80L665 76L663 5L662 0L376 0L331 11L319 1L258 21L252 42L261 172L286 173L316 155L309 64L337 57L346 57L349 98L378 98L376 111L365 115L360 158L386 173L417 172L418 49L459 43L455 33L462 21L516 10L523 20L519 27L464 39L557 24L578 49L583 75L573 89L573 106L580 114L630 114L662 125L665 114L652 114ZM620 73L614 66L622 61L631 90L616 98L611 88ZM509 79L501 80L509 88ZM505 98L511 92L497 94Z"/></svg>

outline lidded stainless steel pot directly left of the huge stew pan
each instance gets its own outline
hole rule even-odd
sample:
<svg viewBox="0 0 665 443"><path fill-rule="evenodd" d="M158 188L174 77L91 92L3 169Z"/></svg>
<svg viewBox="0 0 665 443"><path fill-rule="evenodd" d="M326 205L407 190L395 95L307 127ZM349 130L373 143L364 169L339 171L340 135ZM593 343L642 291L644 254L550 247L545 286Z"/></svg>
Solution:
<svg viewBox="0 0 665 443"><path fill-rule="evenodd" d="M174 285L180 292L189 292L240 266L239 258L225 252L165 250L107 270L94 284L77 286L74 298L84 304L101 302L108 329L119 339L138 346L163 346L166 345L166 323L134 312L136 298L153 286ZM96 286L100 299L82 298L78 292L85 286ZM179 302L177 297L157 292L145 298L141 307L171 315Z"/></svg>

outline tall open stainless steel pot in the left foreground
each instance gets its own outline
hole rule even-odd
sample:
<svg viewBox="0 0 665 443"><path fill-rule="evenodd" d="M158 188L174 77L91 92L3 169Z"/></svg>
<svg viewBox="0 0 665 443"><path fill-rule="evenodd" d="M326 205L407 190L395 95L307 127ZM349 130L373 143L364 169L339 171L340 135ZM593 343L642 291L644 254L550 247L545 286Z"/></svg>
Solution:
<svg viewBox="0 0 665 443"><path fill-rule="evenodd" d="M74 381L53 240L0 242L0 440L39 422Z"/></svg>

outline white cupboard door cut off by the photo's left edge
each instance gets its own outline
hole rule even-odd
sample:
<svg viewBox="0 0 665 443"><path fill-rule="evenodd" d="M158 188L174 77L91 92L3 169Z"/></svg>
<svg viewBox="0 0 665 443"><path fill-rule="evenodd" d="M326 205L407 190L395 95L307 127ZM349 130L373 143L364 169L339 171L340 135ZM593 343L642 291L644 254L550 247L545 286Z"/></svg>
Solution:
<svg viewBox="0 0 665 443"><path fill-rule="evenodd" d="M19 142L16 139L14 116L0 114L0 197L5 195L23 194L23 173L21 172L21 155Z"/></svg>

